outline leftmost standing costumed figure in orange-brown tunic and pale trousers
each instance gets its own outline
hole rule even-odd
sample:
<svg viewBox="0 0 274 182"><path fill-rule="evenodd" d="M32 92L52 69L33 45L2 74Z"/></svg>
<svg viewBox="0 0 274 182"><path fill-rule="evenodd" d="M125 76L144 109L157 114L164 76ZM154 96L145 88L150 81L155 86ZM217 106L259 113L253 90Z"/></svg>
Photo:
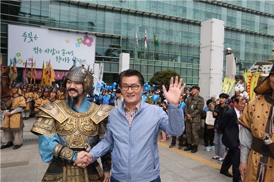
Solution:
<svg viewBox="0 0 274 182"><path fill-rule="evenodd" d="M1 149L10 147L10 142L14 137L15 146L13 149L18 149L23 144L23 118L22 110L26 107L25 98L19 94L20 84L16 84L12 88L13 95L12 107L6 112L3 123L3 135Z"/></svg>

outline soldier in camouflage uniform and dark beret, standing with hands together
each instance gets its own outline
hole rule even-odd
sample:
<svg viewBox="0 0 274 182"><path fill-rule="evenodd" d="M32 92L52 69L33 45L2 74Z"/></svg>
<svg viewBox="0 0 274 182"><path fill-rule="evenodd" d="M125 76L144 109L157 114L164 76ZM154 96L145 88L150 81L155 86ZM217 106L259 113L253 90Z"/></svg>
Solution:
<svg viewBox="0 0 274 182"><path fill-rule="evenodd" d="M197 152L199 142L199 130L201 128L201 113L204 108L204 98L199 95L200 88L193 86L192 95L188 97L185 107L186 138L188 147L184 151Z"/></svg>

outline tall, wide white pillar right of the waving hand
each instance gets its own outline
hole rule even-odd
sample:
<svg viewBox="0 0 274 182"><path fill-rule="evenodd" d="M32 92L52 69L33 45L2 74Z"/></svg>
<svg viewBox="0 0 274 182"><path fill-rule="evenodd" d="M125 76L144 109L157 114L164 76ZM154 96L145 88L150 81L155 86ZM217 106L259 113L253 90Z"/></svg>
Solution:
<svg viewBox="0 0 274 182"><path fill-rule="evenodd" d="M211 18L201 22L200 36L200 95L206 101L221 93L225 25L223 20Z"/></svg>

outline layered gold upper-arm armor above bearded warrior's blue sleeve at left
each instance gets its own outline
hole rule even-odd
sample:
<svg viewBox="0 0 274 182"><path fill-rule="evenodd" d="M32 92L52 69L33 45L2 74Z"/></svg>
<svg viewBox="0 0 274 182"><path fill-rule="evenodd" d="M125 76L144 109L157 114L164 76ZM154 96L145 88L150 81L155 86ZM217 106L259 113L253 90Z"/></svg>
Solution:
<svg viewBox="0 0 274 182"><path fill-rule="evenodd" d="M30 131L34 134L54 136L56 132L55 120L53 118L38 117Z"/></svg>

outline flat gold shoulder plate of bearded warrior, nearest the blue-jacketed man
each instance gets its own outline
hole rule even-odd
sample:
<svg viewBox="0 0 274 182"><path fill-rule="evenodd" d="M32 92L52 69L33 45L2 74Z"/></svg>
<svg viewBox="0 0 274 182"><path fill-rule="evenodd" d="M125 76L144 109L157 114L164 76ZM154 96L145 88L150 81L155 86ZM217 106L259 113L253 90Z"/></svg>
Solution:
<svg viewBox="0 0 274 182"><path fill-rule="evenodd" d="M93 103L95 104L95 103ZM114 108L114 106L112 105L108 105L108 104L101 104L98 106L97 109L94 114L90 117L90 119L95 122L96 124L99 124L101 121L103 121L103 119L105 119L106 117L109 116L111 110Z"/></svg>

